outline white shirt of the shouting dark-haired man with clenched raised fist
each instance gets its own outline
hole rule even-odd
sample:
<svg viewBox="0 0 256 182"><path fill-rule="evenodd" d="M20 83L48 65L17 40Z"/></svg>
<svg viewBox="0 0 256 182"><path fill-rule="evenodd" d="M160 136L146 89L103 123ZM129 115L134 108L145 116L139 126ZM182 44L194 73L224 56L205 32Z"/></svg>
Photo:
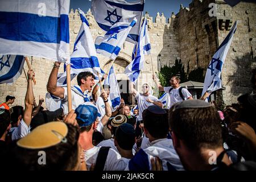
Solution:
<svg viewBox="0 0 256 182"><path fill-rule="evenodd" d="M67 92L67 87L64 88L64 104L62 105L64 114L68 114L68 92ZM72 96L72 109L76 109L81 104L84 104L85 100L90 101L89 95L88 95L88 90L85 90L84 93L82 93L82 90L79 85L75 85L71 87L71 96ZM57 108L59 109L59 108Z"/></svg>

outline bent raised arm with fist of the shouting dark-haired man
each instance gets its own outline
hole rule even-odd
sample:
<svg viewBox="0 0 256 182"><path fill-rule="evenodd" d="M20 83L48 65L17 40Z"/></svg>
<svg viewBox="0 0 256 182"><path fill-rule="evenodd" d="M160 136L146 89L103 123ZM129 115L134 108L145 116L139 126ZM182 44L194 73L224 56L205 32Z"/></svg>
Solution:
<svg viewBox="0 0 256 182"><path fill-rule="evenodd" d="M56 97L64 98L64 88L57 86L57 75L60 63L55 62L47 83L47 91Z"/></svg>

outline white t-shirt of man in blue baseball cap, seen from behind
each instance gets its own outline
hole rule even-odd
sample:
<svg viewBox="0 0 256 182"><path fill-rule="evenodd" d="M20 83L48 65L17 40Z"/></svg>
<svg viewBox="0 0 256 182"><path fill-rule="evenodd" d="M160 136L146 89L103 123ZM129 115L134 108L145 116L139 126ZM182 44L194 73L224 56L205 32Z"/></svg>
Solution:
<svg viewBox="0 0 256 182"><path fill-rule="evenodd" d="M86 167L90 169L92 164L96 164L98 151L100 147L94 146L89 150L84 152L85 160L86 160ZM127 166L127 160L122 158L118 152L114 151L112 148L109 148L109 153L106 158L106 163L104 167L104 171L123 171Z"/></svg>

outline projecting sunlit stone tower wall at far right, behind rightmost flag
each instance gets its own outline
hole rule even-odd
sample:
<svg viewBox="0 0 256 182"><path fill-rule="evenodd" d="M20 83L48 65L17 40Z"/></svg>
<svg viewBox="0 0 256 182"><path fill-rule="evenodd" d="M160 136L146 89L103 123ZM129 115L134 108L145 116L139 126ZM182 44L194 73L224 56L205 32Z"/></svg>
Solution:
<svg viewBox="0 0 256 182"><path fill-rule="evenodd" d="M226 88L223 99L225 104L232 104L241 94L252 91L251 69L256 68L256 4L240 2L231 7L224 1L216 3L219 44L237 20L237 31L222 71L222 85Z"/></svg>

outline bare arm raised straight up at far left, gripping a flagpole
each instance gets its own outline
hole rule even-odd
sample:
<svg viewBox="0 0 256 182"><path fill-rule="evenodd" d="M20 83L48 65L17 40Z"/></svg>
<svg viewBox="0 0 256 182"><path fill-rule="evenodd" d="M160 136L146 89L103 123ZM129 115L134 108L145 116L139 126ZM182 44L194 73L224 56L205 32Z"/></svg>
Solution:
<svg viewBox="0 0 256 182"><path fill-rule="evenodd" d="M35 76L35 72L32 69L28 70L27 72L27 93L25 97L25 110L23 114L23 120L27 126L30 126L31 119L32 119L32 110L34 106L34 93L32 88L32 77Z"/></svg>

